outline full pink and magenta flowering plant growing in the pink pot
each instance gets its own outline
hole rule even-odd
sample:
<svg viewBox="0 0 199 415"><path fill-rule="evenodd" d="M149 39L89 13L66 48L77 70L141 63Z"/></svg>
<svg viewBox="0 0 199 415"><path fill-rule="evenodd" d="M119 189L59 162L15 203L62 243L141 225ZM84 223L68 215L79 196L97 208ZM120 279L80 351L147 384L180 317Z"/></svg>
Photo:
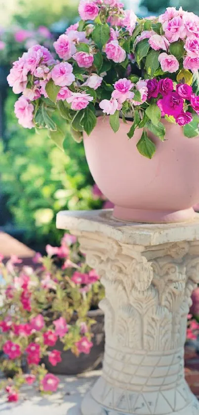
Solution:
<svg viewBox="0 0 199 415"><path fill-rule="evenodd" d="M19 123L47 128L61 146L57 114L79 141L102 110L115 133L119 117L133 119L129 138L143 129L137 148L148 158L156 151L148 130L164 140L161 118L197 137L199 17L169 7L159 18L139 19L119 0L80 0L79 13L80 22L54 43L59 61L37 45L14 62L8 83L22 92L15 103Z"/></svg>

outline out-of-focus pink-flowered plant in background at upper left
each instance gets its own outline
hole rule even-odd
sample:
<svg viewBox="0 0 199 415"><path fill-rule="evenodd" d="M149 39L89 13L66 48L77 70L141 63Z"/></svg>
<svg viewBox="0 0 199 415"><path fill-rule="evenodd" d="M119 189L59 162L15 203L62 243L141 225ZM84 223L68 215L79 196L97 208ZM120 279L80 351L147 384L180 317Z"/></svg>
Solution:
<svg viewBox="0 0 199 415"><path fill-rule="evenodd" d="M18 25L0 27L0 64L12 65L19 54L40 43L52 50L53 36L45 26L24 29Z"/></svg>

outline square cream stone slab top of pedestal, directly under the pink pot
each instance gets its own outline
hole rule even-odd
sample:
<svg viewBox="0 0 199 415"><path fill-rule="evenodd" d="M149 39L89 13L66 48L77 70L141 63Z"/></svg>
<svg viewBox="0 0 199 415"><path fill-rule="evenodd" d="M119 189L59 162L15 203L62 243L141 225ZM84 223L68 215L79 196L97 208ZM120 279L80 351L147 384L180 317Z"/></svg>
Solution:
<svg viewBox="0 0 199 415"><path fill-rule="evenodd" d="M99 232L121 243L153 246L168 242L199 241L199 214L178 224L139 224L113 218L113 210L62 211L57 214L58 229Z"/></svg>

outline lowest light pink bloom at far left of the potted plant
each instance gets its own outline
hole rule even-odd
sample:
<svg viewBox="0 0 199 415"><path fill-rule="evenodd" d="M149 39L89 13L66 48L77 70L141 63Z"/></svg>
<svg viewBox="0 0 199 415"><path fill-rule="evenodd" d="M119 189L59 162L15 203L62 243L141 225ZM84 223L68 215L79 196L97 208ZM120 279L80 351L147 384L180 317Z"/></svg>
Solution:
<svg viewBox="0 0 199 415"><path fill-rule="evenodd" d="M19 124L24 128L33 128L34 106L24 96L20 96L14 104L14 113L18 118Z"/></svg>

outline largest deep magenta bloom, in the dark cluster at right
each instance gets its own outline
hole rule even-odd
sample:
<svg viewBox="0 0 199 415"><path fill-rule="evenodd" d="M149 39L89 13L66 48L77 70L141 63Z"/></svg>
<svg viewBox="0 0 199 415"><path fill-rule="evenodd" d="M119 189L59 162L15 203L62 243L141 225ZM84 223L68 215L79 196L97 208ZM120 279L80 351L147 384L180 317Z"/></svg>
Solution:
<svg viewBox="0 0 199 415"><path fill-rule="evenodd" d="M167 115L172 115L174 118L183 112L183 103L183 99L177 92L168 92L161 99L163 112Z"/></svg>

